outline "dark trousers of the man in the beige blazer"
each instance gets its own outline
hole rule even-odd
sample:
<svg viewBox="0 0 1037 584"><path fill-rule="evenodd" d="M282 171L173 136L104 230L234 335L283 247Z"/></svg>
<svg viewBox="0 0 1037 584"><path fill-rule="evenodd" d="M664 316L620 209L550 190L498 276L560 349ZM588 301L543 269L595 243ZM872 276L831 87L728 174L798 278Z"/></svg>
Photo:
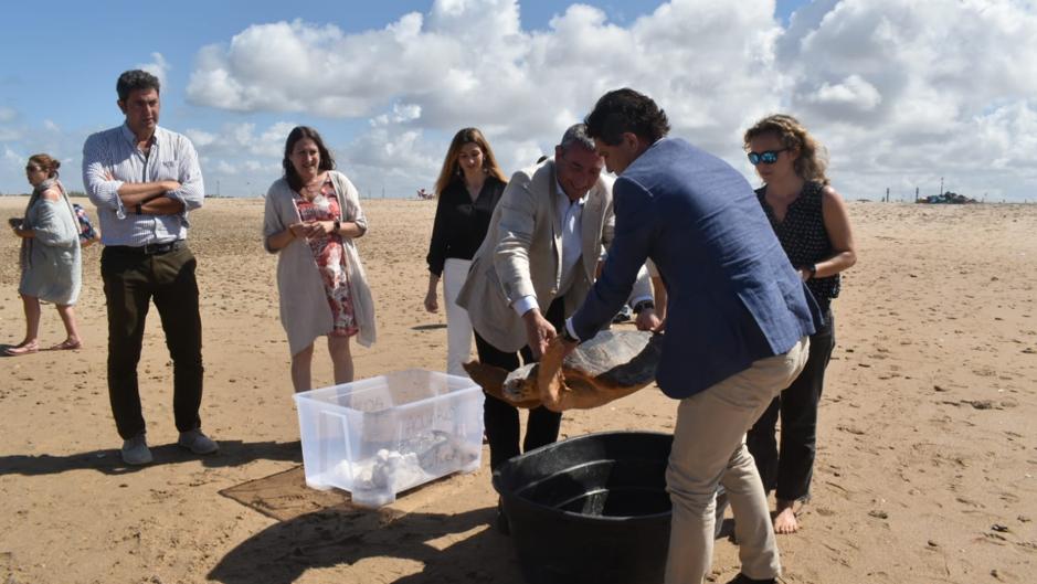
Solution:
<svg viewBox="0 0 1037 584"><path fill-rule="evenodd" d="M546 318L555 330L561 330L565 326L565 304L562 298L555 298L551 302ZM480 363L499 367L507 371L515 371L521 365L519 353L508 353L497 349L479 337L478 331L475 333L475 348ZM533 361L529 347L523 347L520 353L523 362ZM487 394L483 406L483 423L486 427L486 439L489 442L489 468L496 469L511 457L557 440L558 431L562 424L562 414L543 406L530 410L521 450L519 450L520 428L517 407Z"/></svg>

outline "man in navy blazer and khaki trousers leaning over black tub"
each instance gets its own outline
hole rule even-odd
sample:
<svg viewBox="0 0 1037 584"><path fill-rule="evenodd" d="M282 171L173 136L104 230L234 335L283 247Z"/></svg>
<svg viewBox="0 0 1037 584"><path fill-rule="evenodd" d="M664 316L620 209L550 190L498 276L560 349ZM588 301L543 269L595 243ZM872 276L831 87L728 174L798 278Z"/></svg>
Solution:
<svg viewBox="0 0 1037 584"><path fill-rule="evenodd" d="M742 570L731 582L774 582L781 563L745 431L803 369L816 304L745 179L666 138L669 124L655 102L628 88L610 92L585 124L618 174L615 235L562 342L593 337L645 259L655 262L669 297L656 380L680 400L666 472L674 507L666 582L700 584L708 572L718 485L737 519Z"/></svg>

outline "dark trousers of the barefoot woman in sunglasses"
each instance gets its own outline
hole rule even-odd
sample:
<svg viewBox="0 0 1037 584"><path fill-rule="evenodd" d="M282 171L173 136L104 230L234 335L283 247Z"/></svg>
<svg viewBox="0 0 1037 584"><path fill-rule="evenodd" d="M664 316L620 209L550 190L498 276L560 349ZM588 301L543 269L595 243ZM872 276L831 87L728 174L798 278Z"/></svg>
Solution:
<svg viewBox="0 0 1037 584"><path fill-rule="evenodd" d="M810 498L817 452L817 406L825 385L825 368L835 348L835 320L826 310L825 326L811 336L806 367L792 385L771 402L745 436L749 452L768 492L783 501ZM781 445L774 428L781 417Z"/></svg>

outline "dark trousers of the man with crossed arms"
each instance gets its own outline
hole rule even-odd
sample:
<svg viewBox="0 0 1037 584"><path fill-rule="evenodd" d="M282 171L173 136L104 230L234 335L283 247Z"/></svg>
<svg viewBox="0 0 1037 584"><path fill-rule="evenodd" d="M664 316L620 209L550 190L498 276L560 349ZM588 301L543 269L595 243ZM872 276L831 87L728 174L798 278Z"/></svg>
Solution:
<svg viewBox="0 0 1037 584"><path fill-rule="evenodd" d="M160 255L113 246L100 254L100 276L108 305L108 399L124 439L145 432L137 362L152 300L173 362L177 429L201 427L198 410L202 403L202 320L198 311L195 264L187 246Z"/></svg>

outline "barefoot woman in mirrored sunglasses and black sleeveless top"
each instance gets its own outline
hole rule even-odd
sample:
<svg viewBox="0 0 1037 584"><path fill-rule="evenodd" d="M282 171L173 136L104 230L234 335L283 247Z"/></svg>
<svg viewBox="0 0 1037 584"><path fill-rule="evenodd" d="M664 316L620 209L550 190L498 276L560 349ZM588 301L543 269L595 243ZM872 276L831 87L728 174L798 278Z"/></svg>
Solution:
<svg viewBox="0 0 1037 584"><path fill-rule="evenodd" d="M774 399L749 431L749 452L760 478L774 489L774 531L798 530L795 503L810 499L817 437L817 405L825 368L835 348L832 300L839 274L857 262L843 198L828 184L823 147L792 116L769 116L745 131L744 147L763 187L756 198L792 266L814 294L825 323L811 337L810 359L800 376ZM781 445L774 429L781 417Z"/></svg>

